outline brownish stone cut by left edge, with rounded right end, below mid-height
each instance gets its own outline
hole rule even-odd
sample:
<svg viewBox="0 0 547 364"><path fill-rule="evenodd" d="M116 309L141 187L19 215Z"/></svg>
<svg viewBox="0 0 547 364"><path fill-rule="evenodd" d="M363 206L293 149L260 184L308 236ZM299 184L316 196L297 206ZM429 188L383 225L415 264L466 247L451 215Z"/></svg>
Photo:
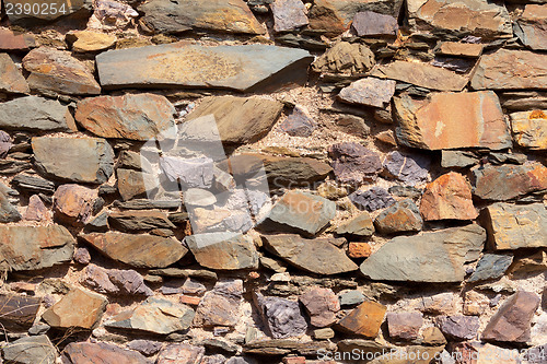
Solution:
<svg viewBox="0 0 547 364"><path fill-rule="evenodd" d="M72 259L75 239L67 228L49 226L0 226L0 269L35 270Z"/></svg>

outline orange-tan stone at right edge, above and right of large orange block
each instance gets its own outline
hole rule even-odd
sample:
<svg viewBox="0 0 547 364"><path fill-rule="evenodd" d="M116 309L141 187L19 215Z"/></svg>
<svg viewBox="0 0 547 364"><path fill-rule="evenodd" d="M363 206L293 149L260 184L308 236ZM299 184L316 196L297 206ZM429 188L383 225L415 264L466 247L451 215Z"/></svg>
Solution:
<svg viewBox="0 0 547 364"><path fill-rule="evenodd" d="M547 58L527 50L499 49L482 55L472 79L474 90L547 89Z"/></svg>

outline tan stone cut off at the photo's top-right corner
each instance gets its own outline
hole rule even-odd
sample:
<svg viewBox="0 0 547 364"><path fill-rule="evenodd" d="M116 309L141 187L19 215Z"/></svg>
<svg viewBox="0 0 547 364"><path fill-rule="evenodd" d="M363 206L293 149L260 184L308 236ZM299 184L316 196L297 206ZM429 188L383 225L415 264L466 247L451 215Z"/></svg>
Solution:
<svg viewBox="0 0 547 364"><path fill-rule="evenodd" d="M516 20L514 32L526 46L547 49L547 5L527 4Z"/></svg>

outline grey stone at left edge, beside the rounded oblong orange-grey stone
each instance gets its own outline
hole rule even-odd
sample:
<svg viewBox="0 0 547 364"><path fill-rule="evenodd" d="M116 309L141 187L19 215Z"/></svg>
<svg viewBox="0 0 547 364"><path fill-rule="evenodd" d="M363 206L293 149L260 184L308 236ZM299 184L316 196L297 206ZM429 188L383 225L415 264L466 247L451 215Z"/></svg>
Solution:
<svg viewBox="0 0 547 364"><path fill-rule="evenodd" d="M69 108L58 101L26 96L2 103L0 128L28 131L75 131Z"/></svg>

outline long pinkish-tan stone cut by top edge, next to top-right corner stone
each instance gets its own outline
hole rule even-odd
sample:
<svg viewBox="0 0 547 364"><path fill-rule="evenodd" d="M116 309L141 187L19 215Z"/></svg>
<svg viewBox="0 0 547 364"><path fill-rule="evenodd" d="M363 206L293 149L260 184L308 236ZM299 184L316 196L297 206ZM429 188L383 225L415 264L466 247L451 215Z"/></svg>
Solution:
<svg viewBox="0 0 547 364"><path fill-rule="evenodd" d="M511 19L503 4L465 0L410 0L408 15L416 31L440 28L467 31L486 38L512 35Z"/></svg>

